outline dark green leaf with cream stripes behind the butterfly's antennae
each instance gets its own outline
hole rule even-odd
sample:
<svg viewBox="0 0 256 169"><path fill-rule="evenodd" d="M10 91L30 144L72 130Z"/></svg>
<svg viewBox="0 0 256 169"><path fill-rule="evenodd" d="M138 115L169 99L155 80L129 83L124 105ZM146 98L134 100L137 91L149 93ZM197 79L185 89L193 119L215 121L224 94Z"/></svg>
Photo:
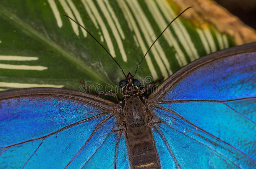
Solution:
<svg viewBox="0 0 256 169"><path fill-rule="evenodd" d="M190 10L193 10L190 9ZM1 0L0 88L115 86L120 68L83 29L84 25L122 66L133 73L142 56L179 13L165 0ZM136 74L167 78L202 55L234 45L212 25L197 27L180 17L154 44ZM117 91L116 88L111 89Z"/></svg>

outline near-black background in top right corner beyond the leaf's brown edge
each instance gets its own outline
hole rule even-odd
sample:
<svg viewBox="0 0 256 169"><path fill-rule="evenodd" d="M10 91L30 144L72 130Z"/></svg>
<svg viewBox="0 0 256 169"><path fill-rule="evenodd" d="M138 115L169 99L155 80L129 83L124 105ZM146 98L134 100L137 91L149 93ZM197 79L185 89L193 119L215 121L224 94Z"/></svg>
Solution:
<svg viewBox="0 0 256 169"><path fill-rule="evenodd" d="M215 0L238 16L246 25L256 29L256 0Z"/></svg>

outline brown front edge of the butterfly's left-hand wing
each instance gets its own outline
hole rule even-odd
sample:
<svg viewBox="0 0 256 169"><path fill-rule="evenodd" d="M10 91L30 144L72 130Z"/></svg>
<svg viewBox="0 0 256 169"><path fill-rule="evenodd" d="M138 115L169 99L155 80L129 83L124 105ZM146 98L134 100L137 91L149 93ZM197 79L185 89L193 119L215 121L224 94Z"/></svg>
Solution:
<svg viewBox="0 0 256 169"><path fill-rule="evenodd" d="M63 98L72 98L74 100L92 104L94 106L102 108L105 111L114 111L116 108L118 108L118 105L116 103L109 101L107 99L66 88L42 87L0 91L0 100L27 96L56 96Z"/></svg>

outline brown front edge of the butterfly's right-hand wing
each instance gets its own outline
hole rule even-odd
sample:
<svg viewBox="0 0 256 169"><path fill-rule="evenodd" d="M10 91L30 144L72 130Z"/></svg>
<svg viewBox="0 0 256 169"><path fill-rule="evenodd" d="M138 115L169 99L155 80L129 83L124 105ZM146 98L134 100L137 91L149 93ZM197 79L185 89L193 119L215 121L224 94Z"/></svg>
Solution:
<svg viewBox="0 0 256 169"><path fill-rule="evenodd" d="M200 68L205 64L208 64L210 62L216 61L221 58L229 57L232 55L237 55L240 53L252 53L252 52L256 52L256 42L235 46L235 47L227 48L224 50L219 50L217 52L198 58L195 61L184 66L183 68L180 68L177 72L173 73L162 84L160 84L160 86L152 94L149 95L147 99L147 104L157 103L163 96L165 96L165 93L167 91L171 90L172 86L175 83L178 83L183 78L183 76L186 76L186 74Z"/></svg>

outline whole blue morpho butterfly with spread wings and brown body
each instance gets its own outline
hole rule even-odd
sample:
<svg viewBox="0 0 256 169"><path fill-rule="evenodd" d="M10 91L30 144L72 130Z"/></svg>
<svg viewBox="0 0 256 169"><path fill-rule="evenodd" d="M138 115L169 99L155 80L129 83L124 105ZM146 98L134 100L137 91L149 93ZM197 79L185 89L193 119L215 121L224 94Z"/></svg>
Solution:
<svg viewBox="0 0 256 169"><path fill-rule="evenodd" d="M0 168L256 168L256 43L193 61L148 98L134 75L118 104L0 92Z"/></svg>

